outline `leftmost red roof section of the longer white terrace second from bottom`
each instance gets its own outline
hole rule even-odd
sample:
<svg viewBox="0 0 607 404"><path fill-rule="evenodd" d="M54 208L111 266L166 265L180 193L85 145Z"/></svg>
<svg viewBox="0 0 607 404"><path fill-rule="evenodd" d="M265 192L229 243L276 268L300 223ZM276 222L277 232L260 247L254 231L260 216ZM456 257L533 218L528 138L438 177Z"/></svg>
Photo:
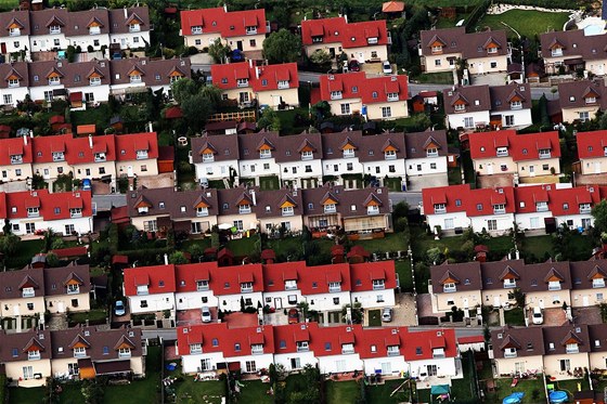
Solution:
<svg viewBox="0 0 607 404"><path fill-rule="evenodd" d="M176 291L175 265L127 268L125 270L125 296L137 296L138 286L147 286L150 295Z"/></svg>

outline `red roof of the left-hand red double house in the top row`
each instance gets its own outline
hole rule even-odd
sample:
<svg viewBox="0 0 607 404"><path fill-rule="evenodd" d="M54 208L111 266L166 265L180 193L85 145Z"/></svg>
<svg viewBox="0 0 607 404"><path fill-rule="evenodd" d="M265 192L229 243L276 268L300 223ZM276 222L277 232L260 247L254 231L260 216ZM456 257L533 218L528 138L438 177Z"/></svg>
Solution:
<svg viewBox="0 0 607 404"><path fill-rule="evenodd" d="M223 38L246 36L246 27L257 27L257 34L267 34L266 10L227 12L223 8L188 10L181 12L181 30L192 35L192 27L202 27L204 34L219 32Z"/></svg>

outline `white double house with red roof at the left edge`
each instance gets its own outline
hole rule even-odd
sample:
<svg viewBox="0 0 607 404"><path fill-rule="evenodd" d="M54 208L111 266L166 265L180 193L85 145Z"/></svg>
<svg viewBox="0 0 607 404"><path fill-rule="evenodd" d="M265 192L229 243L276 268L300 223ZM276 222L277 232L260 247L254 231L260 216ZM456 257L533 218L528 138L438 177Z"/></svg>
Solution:
<svg viewBox="0 0 607 404"><path fill-rule="evenodd" d="M0 219L9 220L13 234L24 236L52 230L63 235L92 232L90 191L51 194L48 190L0 194Z"/></svg>

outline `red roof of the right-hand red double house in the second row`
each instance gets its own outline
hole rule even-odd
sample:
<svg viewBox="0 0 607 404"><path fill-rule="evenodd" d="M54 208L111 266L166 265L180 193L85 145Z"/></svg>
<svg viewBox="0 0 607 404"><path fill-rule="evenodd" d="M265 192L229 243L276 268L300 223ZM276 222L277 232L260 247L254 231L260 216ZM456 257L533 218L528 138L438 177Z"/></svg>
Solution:
<svg viewBox="0 0 607 404"><path fill-rule="evenodd" d="M385 103L389 93L397 93L400 102L409 97L404 75L367 78L364 71L356 71L321 76L320 99L331 101L332 91L341 91L343 100L359 99L363 104Z"/></svg>

